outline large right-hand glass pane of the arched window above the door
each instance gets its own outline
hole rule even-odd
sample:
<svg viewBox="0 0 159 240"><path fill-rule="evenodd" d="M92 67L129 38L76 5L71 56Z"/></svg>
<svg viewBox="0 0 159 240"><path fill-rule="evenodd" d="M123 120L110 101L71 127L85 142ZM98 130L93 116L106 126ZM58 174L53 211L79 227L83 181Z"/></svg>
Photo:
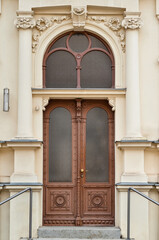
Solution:
<svg viewBox="0 0 159 240"><path fill-rule="evenodd" d="M87 53L81 63L82 88L111 88L111 59L101 51Z"/></svg>

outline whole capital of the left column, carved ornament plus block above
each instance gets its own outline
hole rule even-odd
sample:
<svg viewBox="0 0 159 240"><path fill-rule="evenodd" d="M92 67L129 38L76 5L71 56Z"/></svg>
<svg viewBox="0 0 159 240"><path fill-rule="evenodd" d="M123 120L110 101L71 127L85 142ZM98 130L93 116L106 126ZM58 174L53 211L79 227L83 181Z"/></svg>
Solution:
<svg viewBox="0 0 159 240"><path fill-rule="evenodd" d="M15 19L14 24L17 29L29 29L35 27L35 19L33 18L33 11L17 11L17 19Z"/></svg>

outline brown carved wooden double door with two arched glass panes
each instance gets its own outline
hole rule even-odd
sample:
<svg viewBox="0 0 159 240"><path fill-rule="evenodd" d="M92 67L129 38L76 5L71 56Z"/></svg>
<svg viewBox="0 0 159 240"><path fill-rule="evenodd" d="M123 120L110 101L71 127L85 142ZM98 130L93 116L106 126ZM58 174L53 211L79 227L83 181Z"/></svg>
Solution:
<svg viewBox="0 0 159 240"><path fill-rule="evenodd" d="M114 225L114 115L107 101L44 112L44 225Z"/></svg>

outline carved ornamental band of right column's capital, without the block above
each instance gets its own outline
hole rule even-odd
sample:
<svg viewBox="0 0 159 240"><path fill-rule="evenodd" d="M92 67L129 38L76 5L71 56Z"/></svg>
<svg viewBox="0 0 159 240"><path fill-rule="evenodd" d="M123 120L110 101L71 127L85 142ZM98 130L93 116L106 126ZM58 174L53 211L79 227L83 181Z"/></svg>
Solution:
<svg viewBox="0 0 159 240"><path fill-rule="evenodd" d="M143 26L143 21L140 17L125 17L122 21L122 26L125 29L135 30Z"/></svg>

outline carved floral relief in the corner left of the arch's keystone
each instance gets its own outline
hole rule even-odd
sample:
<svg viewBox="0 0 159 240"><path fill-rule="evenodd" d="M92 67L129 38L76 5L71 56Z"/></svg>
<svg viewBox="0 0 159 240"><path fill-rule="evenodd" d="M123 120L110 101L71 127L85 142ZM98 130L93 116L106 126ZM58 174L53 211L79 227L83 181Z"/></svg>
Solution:
<svg viewBox="0 0 159 240"><path fill-rule="evenodd" d="M59 16L59 17L51 17L50 19L41 17L38 18L35 22L32 38L32 51L36 52L36 48L38 46L39 38L42 35L42 33L47 30L48 28L52 27L55 23L61 24L63 21L69 20L69 16Z"/></svg>

